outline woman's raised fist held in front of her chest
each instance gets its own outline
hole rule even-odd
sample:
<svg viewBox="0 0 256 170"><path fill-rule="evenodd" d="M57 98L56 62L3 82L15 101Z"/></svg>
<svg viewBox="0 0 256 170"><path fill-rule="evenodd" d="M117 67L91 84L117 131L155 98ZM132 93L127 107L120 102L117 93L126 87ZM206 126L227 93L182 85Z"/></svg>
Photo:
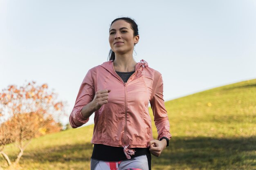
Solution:
<svg viewBox="0 0 256 170"><path fill-rule="evenodd" d="M103 104L108 103L108 93L111 90L99 90L95 93L94 99L92 100L94 110L99 110Z"/></svg>

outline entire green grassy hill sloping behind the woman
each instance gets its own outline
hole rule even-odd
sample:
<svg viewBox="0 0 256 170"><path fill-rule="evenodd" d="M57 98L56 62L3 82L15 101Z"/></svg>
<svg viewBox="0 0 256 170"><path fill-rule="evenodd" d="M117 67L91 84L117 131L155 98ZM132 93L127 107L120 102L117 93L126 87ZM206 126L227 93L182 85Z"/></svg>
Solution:
<svg viewBox="0 0 256 170"><path fill-rule="evenodd" d="M153 157L153 170L256 169L256 79L171 100L166 109L173 137ZM20 169L89 170L92 131L90 125L33 139ZM5 151L11 159L18 152L13 145Z"/></svg>

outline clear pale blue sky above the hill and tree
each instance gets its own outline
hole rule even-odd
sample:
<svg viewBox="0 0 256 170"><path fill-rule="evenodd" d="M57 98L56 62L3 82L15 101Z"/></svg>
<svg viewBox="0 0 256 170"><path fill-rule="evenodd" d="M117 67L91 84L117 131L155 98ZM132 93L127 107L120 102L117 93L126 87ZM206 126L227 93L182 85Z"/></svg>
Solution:
<svg viewBox="0 0 256 170"><path fill-rule="evenodd" d="M88 69L107 61L110 23L126 16L165 101L256 78L256 0L0 0L0 89L47 83L70 113Z"/></svg>

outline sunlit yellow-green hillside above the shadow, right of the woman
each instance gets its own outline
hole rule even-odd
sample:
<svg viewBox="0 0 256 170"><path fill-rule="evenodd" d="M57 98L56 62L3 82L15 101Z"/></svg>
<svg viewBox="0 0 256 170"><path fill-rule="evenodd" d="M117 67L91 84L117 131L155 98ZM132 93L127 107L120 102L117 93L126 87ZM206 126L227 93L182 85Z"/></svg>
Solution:
<svg viewBox="0 0 256 170"><path fill-rule="evenodd" d="M174 99L165 106L173 136L256 135L256 79Z"/></svg>

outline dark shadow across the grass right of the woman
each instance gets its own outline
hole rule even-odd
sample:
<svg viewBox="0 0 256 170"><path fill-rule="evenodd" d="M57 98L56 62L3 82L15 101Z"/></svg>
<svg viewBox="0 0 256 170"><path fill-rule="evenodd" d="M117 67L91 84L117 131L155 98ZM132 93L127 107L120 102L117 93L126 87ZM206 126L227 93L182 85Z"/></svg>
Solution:
<svg viewBox="0 0 256 170"><path fill-rule="evenodd" d="M161 158L153 158L152 164L171 165L171 169L249 170L256 168L255 152L256 137L174 137Z"/></svg>

